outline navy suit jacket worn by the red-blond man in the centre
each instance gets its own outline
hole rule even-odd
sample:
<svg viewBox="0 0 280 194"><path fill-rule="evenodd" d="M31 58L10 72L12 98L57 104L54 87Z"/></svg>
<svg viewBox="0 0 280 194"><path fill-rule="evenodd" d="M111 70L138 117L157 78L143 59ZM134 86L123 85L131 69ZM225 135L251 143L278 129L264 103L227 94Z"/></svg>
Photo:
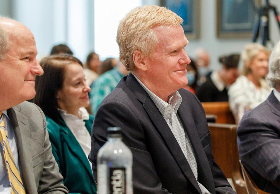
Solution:
<svg viewBox="0 0 280 194"><path fill-rule="evenodd" d="M180 89L178 114L193 146L198 181L210 193L235 193L213 160L211 137L198 99ZM123 142L133 154L134 193L201 193L195 176L168 124L132 74L101 103L92 126L89 159L96 175L96 157L106 142L107 127L122 128Z"/></svg>

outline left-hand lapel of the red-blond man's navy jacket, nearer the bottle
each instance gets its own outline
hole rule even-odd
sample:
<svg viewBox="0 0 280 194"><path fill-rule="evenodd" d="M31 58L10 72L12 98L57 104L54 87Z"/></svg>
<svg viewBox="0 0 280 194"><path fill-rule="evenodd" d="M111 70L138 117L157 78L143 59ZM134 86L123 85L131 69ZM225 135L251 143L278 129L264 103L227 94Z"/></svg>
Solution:
<svg viewBox="0 0 280 194"><path fill-rule="evenodd" d="M137 82L132 74L128 75L126 83L134 93L136 98L143 104L143 108L146 110L158 132L162 135L167 147L170 150L170 153L173 155L183 174L193 184L197 191L201 193L194 174L190 173L192 172L192 169L190 168L190 165L188 164L183 151L181 150L171 129L161 115L160 111L157 109L156 105L153 103L148 93L141 87L141 85Z"/></svg>

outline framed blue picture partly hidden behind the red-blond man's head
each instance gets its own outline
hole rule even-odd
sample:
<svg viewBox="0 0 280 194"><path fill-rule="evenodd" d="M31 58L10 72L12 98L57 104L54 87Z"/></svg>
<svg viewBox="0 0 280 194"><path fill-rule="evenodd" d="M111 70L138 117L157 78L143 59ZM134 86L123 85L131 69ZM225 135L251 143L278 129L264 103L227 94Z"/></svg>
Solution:
<svg viewBox="0 0 280 194"><path fill-rule="evenodd" d="M188 39L199 38L200 0L161 0L160 3L183 19L183 29Z"/></svg>

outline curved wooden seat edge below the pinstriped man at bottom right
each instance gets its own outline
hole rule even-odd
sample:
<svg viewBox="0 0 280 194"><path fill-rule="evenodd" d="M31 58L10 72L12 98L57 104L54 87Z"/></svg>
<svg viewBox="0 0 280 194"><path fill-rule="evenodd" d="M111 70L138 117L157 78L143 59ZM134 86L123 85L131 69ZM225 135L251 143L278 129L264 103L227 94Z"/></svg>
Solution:
<svg viewBox="0 0 280 194"><path fill-rule="evenodd" d="M245 169L245 167L243 166L243 164L241 163L240 160L239 160L239 162L240 162L240 165L241 165L241 170L242 170L243 178L245 180L247 193L248 194L266 194L267 192L265 192L265 191L261 190L260 188L258 188L258 186L253 181L253 179L250 176L250 174L248 174L247 170Z"/></svg>

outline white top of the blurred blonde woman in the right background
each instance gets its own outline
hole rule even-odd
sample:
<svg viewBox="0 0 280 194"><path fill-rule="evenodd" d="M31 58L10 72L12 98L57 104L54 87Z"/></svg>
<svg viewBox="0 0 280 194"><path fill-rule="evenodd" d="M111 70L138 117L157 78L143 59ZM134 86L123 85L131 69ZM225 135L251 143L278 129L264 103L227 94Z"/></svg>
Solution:
<svg viewBox="0 0 280 194"><path fill-rule="evenodd" d="M260 88L257 88L244 75L240 75L228 90L228 98L232 113L237 116L238 122L244 113L252 110L269 96L272 88L269 87L265 79L260 79Z"/></svg>

